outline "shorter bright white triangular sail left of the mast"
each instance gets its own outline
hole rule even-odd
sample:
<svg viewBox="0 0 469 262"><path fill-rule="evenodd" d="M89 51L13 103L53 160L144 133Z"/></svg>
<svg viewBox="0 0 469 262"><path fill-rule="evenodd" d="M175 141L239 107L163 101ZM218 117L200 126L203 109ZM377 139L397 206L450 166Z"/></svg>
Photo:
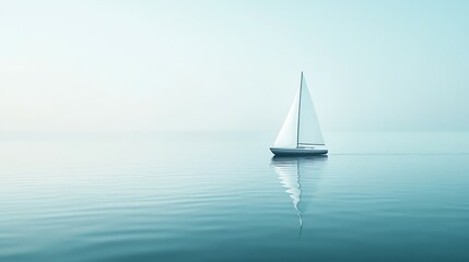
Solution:
<svg viewBox="0 0 469 262"><path fill-rule="evenodd" d="M280 147L296 147L297 144L297 128L298 128L298 98L300 92L293 99L293 104L290 107L289 115L283 122L282 129L277 136L274 146Z"/></svg>

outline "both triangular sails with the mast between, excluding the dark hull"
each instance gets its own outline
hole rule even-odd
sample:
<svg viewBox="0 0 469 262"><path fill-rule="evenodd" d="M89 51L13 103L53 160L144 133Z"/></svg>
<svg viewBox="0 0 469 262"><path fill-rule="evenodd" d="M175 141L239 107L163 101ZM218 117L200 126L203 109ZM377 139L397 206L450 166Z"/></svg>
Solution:
<svg viewBox="0 0 469 262"><path fill-rule="evenodd" d="M279 147L301 145L324 145L323 132L303 72L300 91L274 143L274 146Z"/></svg>

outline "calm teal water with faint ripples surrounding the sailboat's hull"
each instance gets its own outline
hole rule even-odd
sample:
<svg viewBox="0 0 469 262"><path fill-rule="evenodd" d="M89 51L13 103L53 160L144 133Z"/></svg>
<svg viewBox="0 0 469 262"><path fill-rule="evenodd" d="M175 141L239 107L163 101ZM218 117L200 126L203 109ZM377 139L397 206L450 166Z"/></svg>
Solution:
<svg viewBox="0 0 469 262"><path fill-rule="evenodd" d="M469 134L0 136L0 261L469 261Z"/></svg>

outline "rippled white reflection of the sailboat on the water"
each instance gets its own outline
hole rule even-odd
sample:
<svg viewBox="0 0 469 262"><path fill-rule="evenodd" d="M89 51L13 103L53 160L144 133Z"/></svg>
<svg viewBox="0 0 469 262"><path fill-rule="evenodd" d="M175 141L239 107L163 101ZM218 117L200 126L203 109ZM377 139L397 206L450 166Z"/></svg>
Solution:
<svg viewBox="0 0 469 262"><path fill-rule="evenodd" d="M286 189L285 192L289 193L292 199L293 207L298 216L300 229L303 227L302 212L304 207L306 207L305 203L303 203L304 201L302 201L302 194L305 193L305 189L302 188L302 181L305 182L305 180L309 180L307 184L314 183L315 181L310 181L310 179L318 178L326 160L326 155L272 157L271 166L273 166L280 182Z"/></svg>

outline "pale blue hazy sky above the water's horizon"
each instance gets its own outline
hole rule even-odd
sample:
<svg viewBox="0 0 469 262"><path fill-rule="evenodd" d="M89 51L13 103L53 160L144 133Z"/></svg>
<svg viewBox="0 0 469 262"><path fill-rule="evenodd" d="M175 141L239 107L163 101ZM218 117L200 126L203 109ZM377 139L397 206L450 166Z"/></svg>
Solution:
<svg viewBox="0 0 469 262"><path fill-rule="evenodd" d="M0 132L469 131L469 1L0 1Z"/></svg>

